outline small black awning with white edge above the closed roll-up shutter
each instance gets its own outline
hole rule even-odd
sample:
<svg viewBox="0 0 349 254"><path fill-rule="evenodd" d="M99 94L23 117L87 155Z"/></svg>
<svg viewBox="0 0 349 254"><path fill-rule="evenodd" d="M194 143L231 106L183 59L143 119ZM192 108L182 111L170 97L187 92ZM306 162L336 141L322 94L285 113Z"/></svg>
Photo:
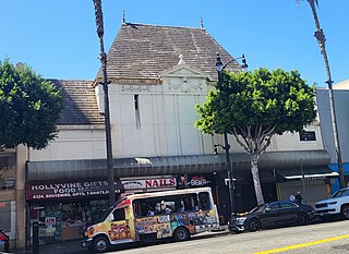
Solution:
<svg viewBox="0 0 349 254"><path fill-rule="evenodd" d="M290 168L290 169L277 169L277 177L279 180L316 180L326 178L337 178L339 174L333 171L328 167L322 168Z"/></svg>

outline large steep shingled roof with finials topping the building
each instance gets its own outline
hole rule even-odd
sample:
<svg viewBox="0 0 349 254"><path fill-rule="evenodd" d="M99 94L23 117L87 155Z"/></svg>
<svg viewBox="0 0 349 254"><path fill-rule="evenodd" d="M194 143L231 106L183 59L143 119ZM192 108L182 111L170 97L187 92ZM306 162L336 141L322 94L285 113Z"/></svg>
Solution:
<svg viewBox="0 0 349 254"><path fill-rule="evenodd" d="M217 80L217 52L224 63L232 59L202 28L124 23L108 52L108 77L158 78L161 71L177 65L182 55L186 64ZM241 69L237 62L232 62L227 70ZM99 71L97 77L100 76Z"/></svg>

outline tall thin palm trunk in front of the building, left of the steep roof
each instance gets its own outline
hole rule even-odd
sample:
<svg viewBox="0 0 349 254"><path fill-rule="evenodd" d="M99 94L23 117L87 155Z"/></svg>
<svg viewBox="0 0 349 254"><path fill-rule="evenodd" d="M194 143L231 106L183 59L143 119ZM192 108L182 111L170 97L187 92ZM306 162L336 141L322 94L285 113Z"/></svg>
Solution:
<svg viewBox="0 0 349 254"><path fill-rule="evenodd" d="M109 95L108 95L108 81L107 81L107 55L103 36L105 34L103 25L101 0L93 0L95 5L97 35L99 38L100 53L99 60L101 65L101 85L105 96L105 126L106 126L106 146L107 146L107 170L108 170L108 189L109 189L109 203L116 203L116 186L113 182L113 165L112 165L112 149L111 149L111 130L110 130L110 114L109 114Z"/></svg>

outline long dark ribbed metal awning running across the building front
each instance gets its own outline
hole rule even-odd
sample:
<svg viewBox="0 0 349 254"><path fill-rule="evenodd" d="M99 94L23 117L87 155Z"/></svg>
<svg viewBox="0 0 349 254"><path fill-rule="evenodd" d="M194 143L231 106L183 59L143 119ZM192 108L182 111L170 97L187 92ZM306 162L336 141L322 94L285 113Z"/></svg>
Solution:
<svg viewBox="0 0 349 254"><path fill-rule="evenodd" d="M268 152L261 156L260 171L288 168L324 168L329 164L326 150L289 150ZM230 154L234 172L249 171L250 155L246 153ZM115 177L146 177L213 173L227 171L227 158L220 155L188 155L164 157L115 158ZM27 161L27 181L59 181L82 179L105 179L109 174L106 159ZM267 177L273 180L270 173ZM263 181L263 176L261 177ZM268 181L269 181L268 180Z"/></svg>

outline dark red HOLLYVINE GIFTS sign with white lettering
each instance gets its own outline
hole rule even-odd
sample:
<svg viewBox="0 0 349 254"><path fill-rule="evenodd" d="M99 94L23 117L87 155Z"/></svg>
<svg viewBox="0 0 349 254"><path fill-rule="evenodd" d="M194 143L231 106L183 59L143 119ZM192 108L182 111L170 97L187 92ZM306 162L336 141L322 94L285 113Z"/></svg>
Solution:
<svg viewBox="0 0 349 254"><path fill-rule="evenodd" d="M116 182L116 193L121 192L121 183ZM107 195L109 193L108 181L76 181L56 183L26 183L26 199L56 199L56 198L81 198L95 195Z"/></svg>

